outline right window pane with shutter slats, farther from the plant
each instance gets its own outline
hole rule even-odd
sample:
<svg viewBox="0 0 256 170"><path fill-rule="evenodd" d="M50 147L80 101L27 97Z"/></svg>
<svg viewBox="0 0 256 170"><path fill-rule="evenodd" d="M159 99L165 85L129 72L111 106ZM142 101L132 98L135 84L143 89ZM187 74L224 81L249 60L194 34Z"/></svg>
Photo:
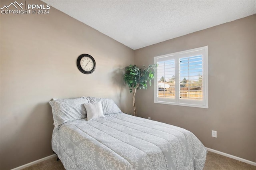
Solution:
<svg viewBox="0 0 256 170"><path fill-rule="evenodd" d="M202 55L179 59L180 99L202 100Z"/></svg>

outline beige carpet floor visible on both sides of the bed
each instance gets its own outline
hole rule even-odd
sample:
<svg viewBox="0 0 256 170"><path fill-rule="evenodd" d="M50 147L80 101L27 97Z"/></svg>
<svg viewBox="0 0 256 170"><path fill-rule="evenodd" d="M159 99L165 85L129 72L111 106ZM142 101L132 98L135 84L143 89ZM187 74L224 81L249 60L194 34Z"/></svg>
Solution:
<svg viewBox="0 0 256 170"><path fill-rule="evenodd" d="M62 163L51 158L23 170L65 170ZM208 152L204 170L256 170L256 166Z"/></svg>

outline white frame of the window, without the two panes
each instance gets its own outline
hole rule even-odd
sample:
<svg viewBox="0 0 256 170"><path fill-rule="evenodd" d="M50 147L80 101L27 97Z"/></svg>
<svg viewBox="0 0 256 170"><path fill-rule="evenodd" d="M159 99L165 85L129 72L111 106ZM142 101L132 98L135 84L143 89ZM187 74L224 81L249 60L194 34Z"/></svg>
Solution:
<svg viewBox="0 0 256 170"><path fill-rule="evenodd" d="M202 100L193 99L180 99L180 83L179 83L179 59L184 57L192 57L195 55L202 55ZM208 46L199 47L195 49L189 49L186 51L180 51L176 53L160 55L154 57L154 64L159 61L167 61L170 59L175 60L175 98L158 97L158 78L157 70L154 73L154 103L179 105L188 107L200 107L208 108Z"/></svg>

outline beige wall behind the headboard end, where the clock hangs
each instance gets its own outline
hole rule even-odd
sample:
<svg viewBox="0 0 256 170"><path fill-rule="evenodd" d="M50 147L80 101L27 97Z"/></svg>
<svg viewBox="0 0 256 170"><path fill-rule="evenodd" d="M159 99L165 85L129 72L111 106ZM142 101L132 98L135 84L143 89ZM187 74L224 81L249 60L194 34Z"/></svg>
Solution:
<svg viewBox="0 0 256 170"><path fill-rule="evenodd" d="M0 24L1 170L53 154L51 98L109 97L133 113L122 76L134 64L134 50L54 8L44 15L1 14ZM76 66L82 53L96 60L90 75Z"/></svg>

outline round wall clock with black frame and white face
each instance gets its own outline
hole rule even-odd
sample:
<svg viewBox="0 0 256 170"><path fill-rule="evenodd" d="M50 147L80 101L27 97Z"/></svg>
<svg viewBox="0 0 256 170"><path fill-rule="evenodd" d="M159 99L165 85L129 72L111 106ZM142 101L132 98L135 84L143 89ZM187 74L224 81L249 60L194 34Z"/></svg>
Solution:
<svg viewBox="0 0 256 170"><path fill-rule="evenodd" d="M89 54L81 54L76 61L78 69L84 74L91 74L94 72L96 62L94 58Z"/></svg>

